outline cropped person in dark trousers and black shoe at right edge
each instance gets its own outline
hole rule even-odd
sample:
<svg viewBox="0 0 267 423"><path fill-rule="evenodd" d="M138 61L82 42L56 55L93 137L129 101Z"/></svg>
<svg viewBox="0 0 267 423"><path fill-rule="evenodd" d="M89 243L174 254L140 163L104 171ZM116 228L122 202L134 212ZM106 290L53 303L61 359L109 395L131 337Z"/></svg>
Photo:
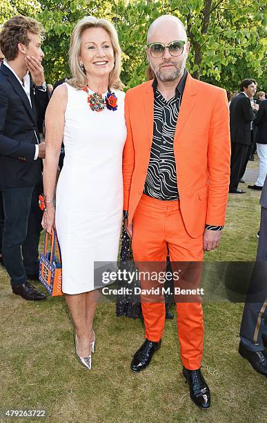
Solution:
<svg viewBox="0 0 267 423"><path fill-rule="evenodd" d="M241 322L239 353L258 373L267 376L267 178L259 203L259 245Z"/></svg>

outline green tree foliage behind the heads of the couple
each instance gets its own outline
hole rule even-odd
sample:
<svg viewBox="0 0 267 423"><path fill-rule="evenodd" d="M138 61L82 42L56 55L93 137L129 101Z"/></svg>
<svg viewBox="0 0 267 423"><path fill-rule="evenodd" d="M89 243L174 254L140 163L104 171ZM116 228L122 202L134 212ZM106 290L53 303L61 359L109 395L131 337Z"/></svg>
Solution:
<svg viewBox="0 0 267 423"><path fill-rule="evenodd" d="M29 5L26 0L1 0ZM144 46L150 23L164 14L183 21L190 41L188 69L194 77L235 90L241 79L253 77L264 89L266 17L264 0L40 0L38 19L46 28L45 68L49 82L69 75L71 32L86 15L106 17L117 28L123 50L121 79L135 86L145 79ZM32 0L36 5L37 0ZM17 6L16 6L17 5ZM10 10L7 7L7 17ZM29 6L30 7L30 6ZM33 7L33 6L32 6ZM21 8L20 10L23 10ZM20 11L19 10L19 11ZM35 15L35 6L28 15Z"/></svg>

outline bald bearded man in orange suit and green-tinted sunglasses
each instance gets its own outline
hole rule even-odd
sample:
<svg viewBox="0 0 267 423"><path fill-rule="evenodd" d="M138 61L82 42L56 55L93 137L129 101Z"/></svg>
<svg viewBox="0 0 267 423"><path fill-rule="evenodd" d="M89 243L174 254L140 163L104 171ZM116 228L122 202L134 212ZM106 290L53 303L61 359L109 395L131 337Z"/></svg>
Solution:
<svg viewBox="0 0 267 423"><path fill-rule="evenodd" d="M162 16L148 30L154 79L126 93L128 138L123 151L124 225L136 263L201 262L224 225L230 176L226 92L186 71L189 42L179 19ZM164 301L142 303L146 340L131 369L144 370L159 350ZM177 302L183 374L190 397L210 406L201 375L204 323L200 302Z"/></svg>

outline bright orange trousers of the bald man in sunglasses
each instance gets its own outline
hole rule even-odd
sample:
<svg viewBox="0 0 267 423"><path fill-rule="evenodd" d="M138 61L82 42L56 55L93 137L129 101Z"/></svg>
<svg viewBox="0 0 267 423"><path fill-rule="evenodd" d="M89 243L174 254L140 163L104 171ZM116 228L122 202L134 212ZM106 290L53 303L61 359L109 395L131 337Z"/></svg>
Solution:
<svg viewBox="0 0 267 423"><path fill-rule="evenodd" d="M203 261L203 236L191 238L188 235L179 200L161 201L143 195L133 218L132 252L137 267L138 262L161 262L157 270L162 270L163 265L166 267L167 246L171 264ZM143 288L142 281L141 285ZM145 337L158 342L164 333L165 303L144 302L144 298L141 301ZM204 321L201 302L177 302L176 306L181 361L189 370L196 370L201 366L203 355Z"/></svg>

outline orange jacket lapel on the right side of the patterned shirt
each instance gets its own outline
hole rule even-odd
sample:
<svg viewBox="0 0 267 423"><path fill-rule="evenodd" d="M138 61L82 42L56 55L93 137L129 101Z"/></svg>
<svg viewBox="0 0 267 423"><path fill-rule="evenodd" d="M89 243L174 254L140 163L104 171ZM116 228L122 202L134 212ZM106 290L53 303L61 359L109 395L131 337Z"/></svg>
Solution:
<svg viewBox="0 0 267 423"><path fill-rule="evenodd" d="M179 116L177 120L177 125L175 129L175 140L179 137L181 134L182 129L184 129L186 126L186 121L188 120L190 113L192 112L192 109L195 106L195 87L194 87L194 79L189 75L187 75L186 78L186 86L184 87L184 93L183 98L181 100L181 107L179 110Z"/></svg>

